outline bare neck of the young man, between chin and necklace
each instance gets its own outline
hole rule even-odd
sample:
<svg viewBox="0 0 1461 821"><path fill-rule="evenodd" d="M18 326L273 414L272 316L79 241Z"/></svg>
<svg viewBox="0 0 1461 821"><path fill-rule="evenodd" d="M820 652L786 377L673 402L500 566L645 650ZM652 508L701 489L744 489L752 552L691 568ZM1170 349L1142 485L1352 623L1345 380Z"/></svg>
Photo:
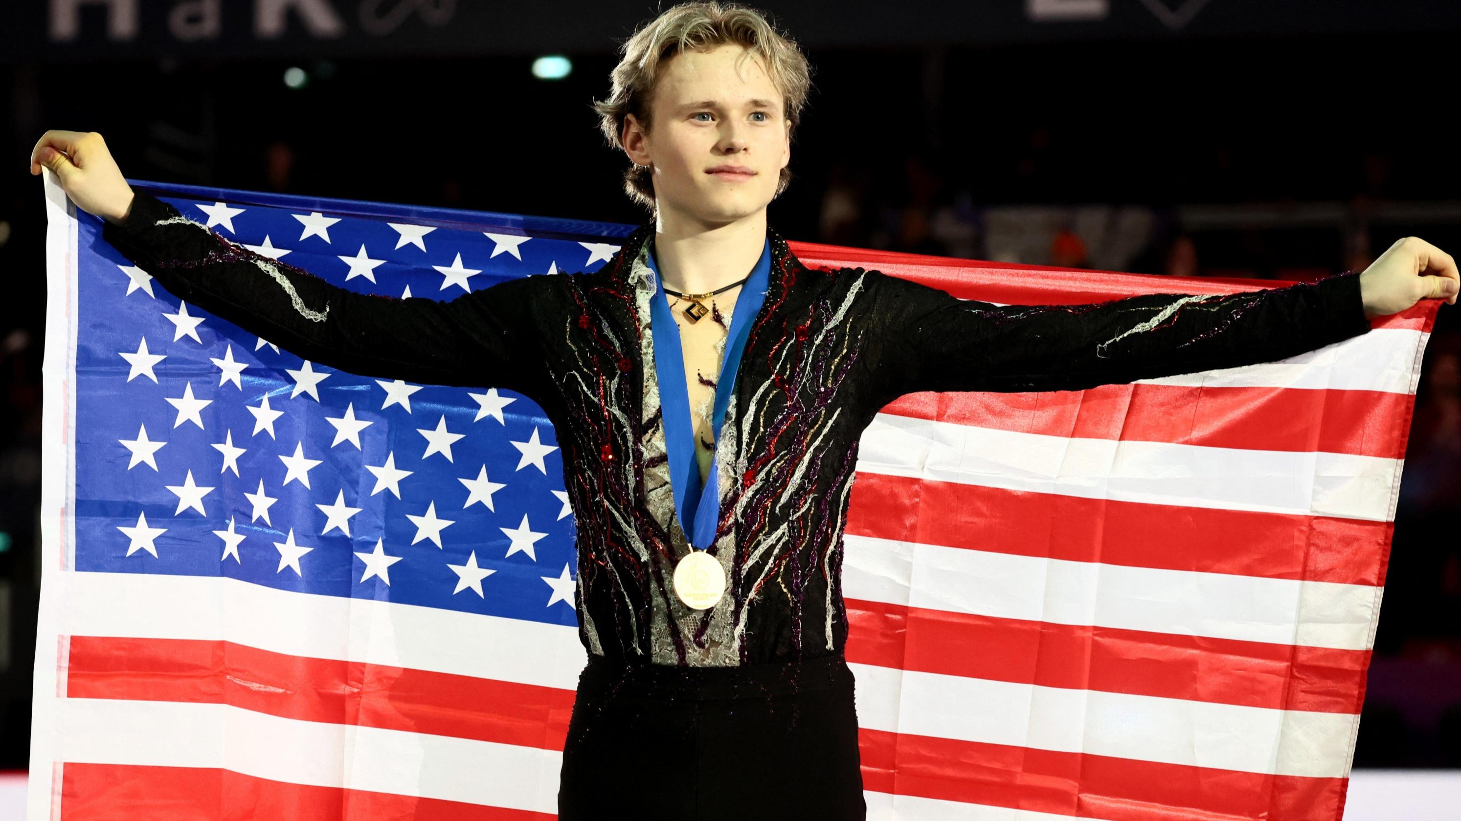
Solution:
<svg viewBox="0 0 1461 821"><path fill-rule="evenodd" d="M733 222L706 224L660 209L655 264L665 288L706 294L744 279L766 250L766 209Z"/></svg>

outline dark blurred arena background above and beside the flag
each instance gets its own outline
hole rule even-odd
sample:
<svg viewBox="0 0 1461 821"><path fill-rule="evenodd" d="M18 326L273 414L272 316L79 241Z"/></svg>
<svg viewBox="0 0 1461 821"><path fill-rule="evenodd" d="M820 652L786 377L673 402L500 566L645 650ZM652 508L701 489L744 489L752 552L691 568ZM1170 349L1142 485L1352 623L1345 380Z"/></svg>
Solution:
<svg viewBox="0 0 1461 821"><path fill-rule="evenodd" d="M197 3L137 0L129 28L114 0L82 1L69 38L67 0L0 9L0 768L23 770L29 749L45 224L28 162L41 133L102 133L133 180L647 216L621 193L627 159L589 104L656 4L311 1L337 26L292 13L269 37L241 0L186 39L178 9ZM1359 270L1411 234L1461 254L1461 4L967 6L757 6L814 67L795 180L770 206L787 238L1275 279ZM571 75L535 79L543 54ZM304 88L283 83L291 67ZM1102 207L1151 228L1096 254L1110 237L1072 215ZM1461 767L1458 310L1442 307L1426 349L1356 767Z"/></svg>

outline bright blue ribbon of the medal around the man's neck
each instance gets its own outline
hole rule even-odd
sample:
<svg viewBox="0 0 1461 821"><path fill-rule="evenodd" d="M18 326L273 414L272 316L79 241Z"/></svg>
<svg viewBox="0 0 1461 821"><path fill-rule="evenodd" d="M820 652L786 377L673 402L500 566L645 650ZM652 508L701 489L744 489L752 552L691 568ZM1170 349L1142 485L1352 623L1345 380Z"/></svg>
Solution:
<svg viewBox="0 0 1461 821"><path fill-rule="evenodd" d="M685 536L695 548L706 549L714 541L716 520L720 519L720 482L716 456L710 462L710 476L700 484L700 467L695 462L695 431L690 419L690 392L685 383L685 355L679 348L679 326L671 314L669 297L660 283L659 267L655 264L655 245L650 241L649 269L655 273L655 295L650 298L650 333L655 339L655 373L659 377L660 418L665 427L665 451L669 459L669 486L675 492L675 511ZM771 240L766 240L761 259L751 269L751 276L741 285L730 329L726 337L720 375L716 378L716 403L712 424L714 438L720 441L720 424L725 422L726 406L735 390L735 377L741 365L741 354L751 335L751 321L766 301L771 280ZM717 448L719 450L719 448ZM690 526L687 527L687 523Z"/></svg>

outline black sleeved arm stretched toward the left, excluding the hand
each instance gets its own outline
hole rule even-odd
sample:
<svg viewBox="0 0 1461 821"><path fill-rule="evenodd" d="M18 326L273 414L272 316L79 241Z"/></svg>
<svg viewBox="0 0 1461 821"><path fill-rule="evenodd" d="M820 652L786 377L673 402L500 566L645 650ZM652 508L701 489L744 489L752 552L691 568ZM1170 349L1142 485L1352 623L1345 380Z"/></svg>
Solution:
<svg viewBox="0 0 1461 821"><path fill-rule="evenodd" d="M527 394L545 371L530 323L545 278L449 302L358 294L250 251L140 190L124 221L107 221L102 238L172 294L314 362Z"/></svg>

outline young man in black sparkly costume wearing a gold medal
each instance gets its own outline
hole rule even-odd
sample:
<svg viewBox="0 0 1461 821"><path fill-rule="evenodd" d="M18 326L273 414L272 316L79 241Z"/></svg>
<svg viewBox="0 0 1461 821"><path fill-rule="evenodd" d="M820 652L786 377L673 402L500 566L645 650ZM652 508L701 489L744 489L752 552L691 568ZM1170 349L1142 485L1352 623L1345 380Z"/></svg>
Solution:
<svg viewBox="0 0 1461 821"><path fill-rule="evenodd" d="M593 273L450 302L354 294L254 254L133 193L99 134L47 131L32 153L188 302L324 365L507 387L548 412L589 653L565 821L863 817L842 533L861 434L897 396L1273 361L1420 298L1455 302L1454 260L1414 238L1313 285L1084 305L812 270L766 218L806 96L795 44L748 9L675 6L624 44L612 86L596 108L653 219Z"/></svg>

